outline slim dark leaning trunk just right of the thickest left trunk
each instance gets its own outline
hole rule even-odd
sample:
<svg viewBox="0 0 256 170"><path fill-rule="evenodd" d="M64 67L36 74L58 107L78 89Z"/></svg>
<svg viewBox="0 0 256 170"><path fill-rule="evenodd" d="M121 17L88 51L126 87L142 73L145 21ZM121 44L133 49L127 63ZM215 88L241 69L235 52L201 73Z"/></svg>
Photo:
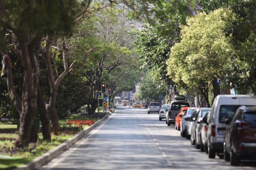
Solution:
<svg viewBox="0 0 256 170"><path fill-rule="evenodd" d="M39 107L40 119L42 122L43 140L50 141L51 140L50 119L48 117L48 113L46 110L46 103L45 103L39 84L37 88L37 105Z"/></svg>

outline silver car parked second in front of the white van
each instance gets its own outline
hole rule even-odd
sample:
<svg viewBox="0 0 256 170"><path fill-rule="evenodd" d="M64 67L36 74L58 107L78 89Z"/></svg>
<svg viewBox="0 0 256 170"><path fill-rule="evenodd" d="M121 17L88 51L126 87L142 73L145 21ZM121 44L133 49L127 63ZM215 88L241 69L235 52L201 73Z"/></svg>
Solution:
<svg viewBox="0 0 256 170"><path fill-rule="evenodd" d="M204 115L206 115L208 111L211 111L211 108L200 108L200 110L196 114L196 119L194 120L194 123L192 124L191 127L190 140L195 143L196 149L200 149L201 145L201 131L199 128L200 123L203 121L203 117Z"/></svg>

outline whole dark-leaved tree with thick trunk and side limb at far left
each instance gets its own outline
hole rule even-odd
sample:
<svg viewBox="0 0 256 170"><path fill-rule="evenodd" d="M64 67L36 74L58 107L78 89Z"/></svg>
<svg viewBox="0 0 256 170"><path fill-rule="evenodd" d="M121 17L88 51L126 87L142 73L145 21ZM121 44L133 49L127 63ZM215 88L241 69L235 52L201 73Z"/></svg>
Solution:
<svg viewBox="0 0 256 170"><path fill-rule="evenodd" d="M6 4L6 10L2 16L1 37L8 32L12 38L12 45L1 46L3 55L3 71L7 72L7 85L10 98L20 113L19 137L16 146L27 146L32 130L32 121L36 109L37 88L39 81L38 57L41 49L42 37L44 34L52 34L55 31L70 31L73 24L74 12L71 6L75 3L72 0L38 2L38 1L12 1ZM54 11L49 16L48 11ZM69 11L69 12L67 12ZM65 18L62 20L61 18ZM2 42L8 44L7 39ZM12 81L12 63L7 51L20 59L24 67L23 92L20 98L16 93Z"/></svg>

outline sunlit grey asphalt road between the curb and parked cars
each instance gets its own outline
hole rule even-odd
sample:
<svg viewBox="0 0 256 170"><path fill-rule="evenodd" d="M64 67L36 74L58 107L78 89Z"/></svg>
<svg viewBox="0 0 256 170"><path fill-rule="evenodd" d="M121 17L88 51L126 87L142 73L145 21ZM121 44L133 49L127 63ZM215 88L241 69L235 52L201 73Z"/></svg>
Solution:
<svg viewBox="0 0 256 170"><path fill-rule="evenodd" d="M147 109L118 107L105 122L40 170L234 170L256 169L256 162L231 166L209 159L180 131Z"/></svg>

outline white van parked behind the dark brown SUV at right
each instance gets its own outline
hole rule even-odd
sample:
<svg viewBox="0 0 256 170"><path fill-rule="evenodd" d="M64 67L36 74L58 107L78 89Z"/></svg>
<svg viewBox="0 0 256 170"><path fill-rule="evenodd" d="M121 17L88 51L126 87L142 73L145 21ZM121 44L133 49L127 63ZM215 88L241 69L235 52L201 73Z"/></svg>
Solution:
<svg viewBox="0 0 256 170"><path fill-rule="evenodd" d="M215 158L215 154L222 157L224 131L227 127L225 119L232 118L238 107L256 106L256 96L251 95L218 95L212 104L208 122L208 157Z"/></svg>

